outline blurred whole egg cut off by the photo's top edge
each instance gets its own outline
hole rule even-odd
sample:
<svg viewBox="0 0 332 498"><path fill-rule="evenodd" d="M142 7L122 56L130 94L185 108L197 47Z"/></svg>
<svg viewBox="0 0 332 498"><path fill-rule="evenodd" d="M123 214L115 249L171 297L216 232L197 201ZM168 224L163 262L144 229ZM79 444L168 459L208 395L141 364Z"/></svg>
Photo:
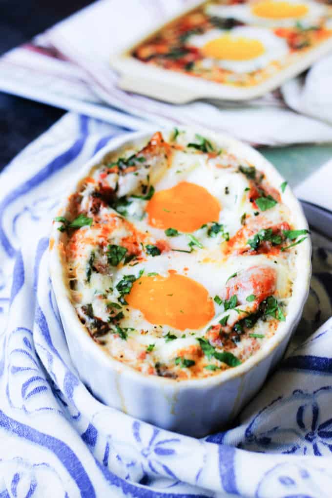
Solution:
<svg viewBox="0 0 332 498"><path fill-rule="evenodd" d="M295 27L297 23L309 28L320 25L327 7L310 0L257 0L234 5L212 3L206 7L206 13L270 28Z"/></svg>

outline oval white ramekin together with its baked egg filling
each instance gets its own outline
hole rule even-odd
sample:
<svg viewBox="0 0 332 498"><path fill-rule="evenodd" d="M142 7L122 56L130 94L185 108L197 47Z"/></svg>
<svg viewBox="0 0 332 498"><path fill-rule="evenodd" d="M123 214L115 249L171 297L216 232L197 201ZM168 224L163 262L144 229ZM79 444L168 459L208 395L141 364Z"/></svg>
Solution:
<svg viewBox="0 0 332 498"><path fill-rule="evenodd" d="M115 138L50 239L72 360L103 402L196 437L281 359L309 290L301 206L257 151L174 128Z"/></svg>

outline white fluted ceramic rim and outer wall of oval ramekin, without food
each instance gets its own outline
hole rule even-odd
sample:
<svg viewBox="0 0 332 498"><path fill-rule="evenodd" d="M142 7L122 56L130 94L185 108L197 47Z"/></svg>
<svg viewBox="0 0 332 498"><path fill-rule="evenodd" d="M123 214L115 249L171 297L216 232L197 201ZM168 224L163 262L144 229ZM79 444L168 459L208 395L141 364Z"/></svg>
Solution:
<svg viewBox="0 0 332 498"><path fill-rule="evenodd" d="M272 185L278 187L284 181L272 164L252 147L226 135L201 129L196 131L216 141L220 147L230 147L231 152L246 158L257 169L264 171ZM148 141L152 133L145 131L115 138L81 169L70 193L76 191L81 180L107 153L141 144L144 139ZM67 197L60 208L60 216L68 215L69 202ZM301 205L289 187L283 194L283 202L291 210L295 228L307 228ZM66 237L65 233L53 228L50 272L69 351L82 381L104 403L159 427L190 436L202 437L220 429L260 389L268 373L282 358L300 320L309 291L311 243L307 238L296 248L297 276L286 321L279 323L275 336L263 344L255 355L238 367L204 379L176 381L144 375L111 358L93 341L80 322L71 303L66 280L63 251Z"/></svg>

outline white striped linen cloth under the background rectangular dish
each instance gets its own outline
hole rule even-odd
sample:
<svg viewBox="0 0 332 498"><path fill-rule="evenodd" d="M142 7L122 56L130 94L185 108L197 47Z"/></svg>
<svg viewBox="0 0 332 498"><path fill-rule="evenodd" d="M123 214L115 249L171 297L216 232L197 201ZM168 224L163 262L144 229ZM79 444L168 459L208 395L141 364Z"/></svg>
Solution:
<svg viewBox="0 0 332 498"><path fill-rule="evenodd" d="M149 123L192 124L264 145L332 141L332 56L281 93L247 103L197 101L174 106L124 92L112 53L174 15L191 0L99 0L32 44L0 58L0 89L142 129ZM281 98L283 95L284 100Z"/></svg>

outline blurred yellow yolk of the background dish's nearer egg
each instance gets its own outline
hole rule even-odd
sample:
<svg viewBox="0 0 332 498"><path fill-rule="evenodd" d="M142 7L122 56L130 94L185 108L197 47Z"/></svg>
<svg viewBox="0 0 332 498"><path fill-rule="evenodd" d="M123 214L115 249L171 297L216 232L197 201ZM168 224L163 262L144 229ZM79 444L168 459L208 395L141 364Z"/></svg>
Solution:
<svg viewBox="0 0 332 498"><path fill-rule="evenodd" d="M203 55L213 59L246 61L264 54L265 49L259 40L226 34L208 41L201 51Z"/></svg>

